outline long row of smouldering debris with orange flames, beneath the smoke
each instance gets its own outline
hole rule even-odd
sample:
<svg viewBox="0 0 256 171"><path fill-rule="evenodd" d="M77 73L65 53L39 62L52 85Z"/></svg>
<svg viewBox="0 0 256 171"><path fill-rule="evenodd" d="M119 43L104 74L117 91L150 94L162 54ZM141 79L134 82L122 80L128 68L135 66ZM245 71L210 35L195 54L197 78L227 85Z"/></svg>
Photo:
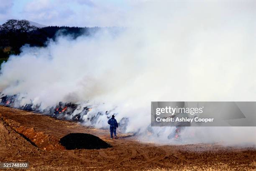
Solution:
<svg viewBox="0 0 256 171"><path fill-rule="evenodd" d="M55 117L57 119L61 120L71 120L71 121L76 121L83 123L84 125L87 126L95 126L95 125L100 125L102 128L107 128L104 127L104 122L107 122L107 119L109 119L113 114L117 115L114 113L114 109L108 110L105 112L99 112L97 110L92 110L94 107L93 106L86 106L85 104L73 104L73 103L64 103L64 102L59 102L56 106L53 107L48 107L46 109L40 109L41 104L25 104L23 106L19 106L20 101L18 98L18 95L13 95L13 96L8 96L2 94L0 96L0 104L7 106L7 107L14 107L18 109L23 109L26 111L31 111L31 112L36 112L36 113L41 113L45 114L48 116ZM121 132L125 132L127 129L129 123L129 118L128 117L123 117L120 122L118 123L119 125L119 130ZM179 125L176 127L174 131L171 131L167 138L169 140L178 140L182 141L181 134L184 131L184 125ZM136 132L133 132L133 135L140 134L140 129ZM164 134L164 130L161 129L157 132L155 132L151 126L148 126L146 129L146 135L147 136L162 136Z"/></svg>

